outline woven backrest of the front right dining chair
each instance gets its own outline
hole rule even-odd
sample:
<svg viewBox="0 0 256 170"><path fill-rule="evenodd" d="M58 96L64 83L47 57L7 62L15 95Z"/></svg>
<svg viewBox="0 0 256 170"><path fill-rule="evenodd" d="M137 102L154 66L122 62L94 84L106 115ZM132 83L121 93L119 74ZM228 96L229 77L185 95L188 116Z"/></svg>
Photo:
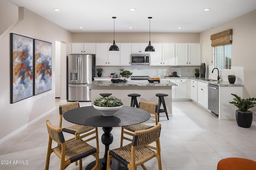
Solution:
<svg viewBox="0 0 256 170"><path fill-rule="evenodd" d="M149 145L150 143L159 141L160 131L161 131L160 123L146 130L135 131L132 139L132 146L144 147L146 145Z"/></svg>

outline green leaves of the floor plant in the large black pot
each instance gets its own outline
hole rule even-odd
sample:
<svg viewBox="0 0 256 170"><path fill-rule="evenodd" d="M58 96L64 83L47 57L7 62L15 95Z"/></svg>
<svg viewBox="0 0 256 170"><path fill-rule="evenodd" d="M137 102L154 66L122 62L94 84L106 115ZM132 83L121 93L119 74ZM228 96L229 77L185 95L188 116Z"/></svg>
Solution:
<svg viewBox="0 0 256 170"><path fill-rule="evenodd" d="M248 99L243 99L237 96L236 94L231 94L235 96L233 102L229 102L231 104L234 104L238 109L242 112L247 112L249 108L254 107L254 104L256 104L256 98L248 98Z"/></svg>

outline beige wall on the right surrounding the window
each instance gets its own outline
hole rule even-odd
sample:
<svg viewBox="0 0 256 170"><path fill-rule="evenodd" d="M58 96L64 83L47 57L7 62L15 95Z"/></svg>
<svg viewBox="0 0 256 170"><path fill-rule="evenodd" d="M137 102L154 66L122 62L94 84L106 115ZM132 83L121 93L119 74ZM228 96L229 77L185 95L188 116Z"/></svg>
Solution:
<svg viewBox="0 0 256 170"><path fill-rule="evenodd" d="M230 20L212 29L200 33L200 41L204 44L204 63L212 65L212 47L210 35L233 29L232 66L244 69L243 98L256 97L256 10L243 16ZM211 72L210 72L211 74ZM253 120L256 121L256 108L254 107ZM234 113L235 114L235 113Z"/></svg>

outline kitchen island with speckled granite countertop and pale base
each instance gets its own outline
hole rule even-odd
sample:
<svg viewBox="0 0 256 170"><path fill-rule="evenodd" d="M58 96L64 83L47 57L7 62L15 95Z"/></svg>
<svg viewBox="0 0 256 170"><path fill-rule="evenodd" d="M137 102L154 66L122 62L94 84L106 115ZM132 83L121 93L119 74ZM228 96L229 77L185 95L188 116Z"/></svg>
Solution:
<svg viewBox="0 0 256 170"><path fill-rule="evenodd" d="M168 94L164 97L168 116L172 116L172 86L176 84L169 81L160 81L150 83L147 80L129 80L128 82L113 83L109 80L94 80L92 81L92 104L96 98L100 98L100 93L112 93L111 96L122 100L124 106L130 106L131 98L128 94L137 93L138 102L140 100L158 103L157 93ZM162 108L162 106L161 106ZM165 114L160 114L165 116Z"/></svg>

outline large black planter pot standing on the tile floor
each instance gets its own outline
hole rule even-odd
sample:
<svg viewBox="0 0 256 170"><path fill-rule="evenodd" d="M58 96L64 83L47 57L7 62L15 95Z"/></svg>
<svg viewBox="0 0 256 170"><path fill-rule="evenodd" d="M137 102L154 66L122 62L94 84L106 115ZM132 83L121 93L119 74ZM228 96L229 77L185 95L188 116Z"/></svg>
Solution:
<svg viewBox="0 0 256 170"><path fill-rule="evenodd" d="M251 127L252 111L241 112L240 110L236 110L236 123L240 127Z"/></svg>

